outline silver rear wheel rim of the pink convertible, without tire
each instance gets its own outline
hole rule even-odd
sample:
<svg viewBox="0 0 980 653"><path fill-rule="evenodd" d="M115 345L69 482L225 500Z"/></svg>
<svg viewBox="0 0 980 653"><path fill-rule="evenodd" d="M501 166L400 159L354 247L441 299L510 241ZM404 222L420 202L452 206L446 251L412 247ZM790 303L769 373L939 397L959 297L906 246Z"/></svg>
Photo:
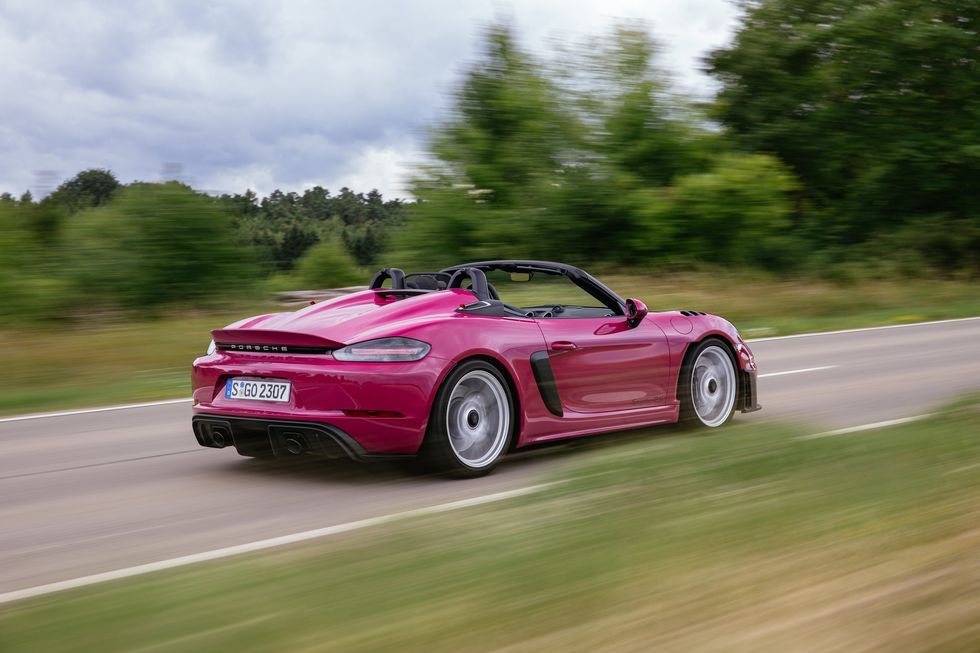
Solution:
<svg viewBox="0 0 980 653"><path fill-rule="evenodd" d="M465 465L486 467L497 459L510 432L510 402L497 377L474 370L456 383L449 395L446 432L453 453Z"/></svg>

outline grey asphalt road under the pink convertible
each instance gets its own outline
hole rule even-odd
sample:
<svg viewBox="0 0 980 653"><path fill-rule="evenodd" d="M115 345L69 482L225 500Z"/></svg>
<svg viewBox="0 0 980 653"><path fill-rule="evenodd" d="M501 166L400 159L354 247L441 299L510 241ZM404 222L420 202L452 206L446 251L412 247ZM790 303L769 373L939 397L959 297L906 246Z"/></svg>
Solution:
<svg viewBox="0 0 980 653"><path fill-rule="evenodd" d="M980 319L751 346L764 409L738 420L788 418L817 432L980 390ZM824 369L800 371L809 368ZM523 487L581 451L538 449L452 481L203 449L189 402L0 422L0 593Z"/></svg>

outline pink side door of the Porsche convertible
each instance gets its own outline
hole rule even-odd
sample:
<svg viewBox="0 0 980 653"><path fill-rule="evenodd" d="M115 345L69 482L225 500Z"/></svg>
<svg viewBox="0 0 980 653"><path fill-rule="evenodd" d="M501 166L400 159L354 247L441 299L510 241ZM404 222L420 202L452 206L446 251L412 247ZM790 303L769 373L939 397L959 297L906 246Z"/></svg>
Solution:
<svg viewBox="0 0 980 653"><path fill-rule="evenodd" d="M670 352L653 320L538 318L562 407L598 413L662 405Z"/></svg>

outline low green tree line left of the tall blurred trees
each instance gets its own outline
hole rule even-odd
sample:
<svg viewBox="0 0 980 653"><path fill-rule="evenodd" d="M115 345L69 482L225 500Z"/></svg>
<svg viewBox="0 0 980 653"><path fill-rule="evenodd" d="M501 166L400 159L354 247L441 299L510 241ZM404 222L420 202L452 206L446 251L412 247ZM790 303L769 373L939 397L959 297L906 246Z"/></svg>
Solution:
<svg viewBox="0 0 980 653"><path fill-rule="evenodd" d="M85 170L40 201L0 195L0 324L363 283L404 210L377 191L213 197Z"/></svg>

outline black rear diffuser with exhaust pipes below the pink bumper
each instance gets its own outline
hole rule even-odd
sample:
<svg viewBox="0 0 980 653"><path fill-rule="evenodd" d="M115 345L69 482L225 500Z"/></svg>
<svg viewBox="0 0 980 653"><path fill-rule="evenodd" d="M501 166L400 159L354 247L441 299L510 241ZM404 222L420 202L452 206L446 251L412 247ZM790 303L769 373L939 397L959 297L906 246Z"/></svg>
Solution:
<svg viewBox="0 0 980 653"><path fill-rule="evenodd" d="M235 447L243 456L292 458L309 453L352 460L400 457L370 453L342 429L318 422L199 414L191 424L202 447Z"/></svg>

